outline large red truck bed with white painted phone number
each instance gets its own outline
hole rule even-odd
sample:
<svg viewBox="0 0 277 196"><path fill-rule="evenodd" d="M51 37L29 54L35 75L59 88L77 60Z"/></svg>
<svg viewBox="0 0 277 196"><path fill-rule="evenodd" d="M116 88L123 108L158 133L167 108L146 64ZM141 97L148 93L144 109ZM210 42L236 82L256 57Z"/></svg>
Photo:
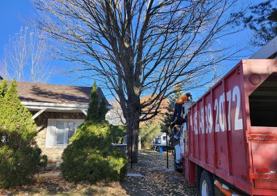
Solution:
<svg viewBox="0 0 277 196"><path fill-rule="evenodd" d="M188 124L190 184L200 168L241 193L277 195L276 60L240 61L190 108Z"/></svg>

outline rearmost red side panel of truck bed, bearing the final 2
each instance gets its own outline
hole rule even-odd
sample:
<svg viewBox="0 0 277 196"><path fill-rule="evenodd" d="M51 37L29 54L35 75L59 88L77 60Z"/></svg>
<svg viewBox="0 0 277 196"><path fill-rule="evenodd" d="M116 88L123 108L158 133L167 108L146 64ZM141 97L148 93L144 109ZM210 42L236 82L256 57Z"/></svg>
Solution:
<svg viewBox="0 0 277 196"><path fill-rule="evenodd" d="M241 70L242 64L238 69ZM246 124L243 115L244 97L243 83L240 80L240 70L233 70L225 79L226 92L226 130L229 134L229 173L247 181L247 146L245 145ZM231 101L229 101L231 100ZM231 110L229 110L229 107Z"/></svg>

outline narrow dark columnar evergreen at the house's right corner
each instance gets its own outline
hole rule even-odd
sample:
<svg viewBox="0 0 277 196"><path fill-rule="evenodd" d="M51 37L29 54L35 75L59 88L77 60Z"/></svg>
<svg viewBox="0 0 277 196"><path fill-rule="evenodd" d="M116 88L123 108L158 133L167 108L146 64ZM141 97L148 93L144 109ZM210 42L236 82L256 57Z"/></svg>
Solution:
<svg viewBox="0 0 277 196"><path fill-rule="evenodd" d="M87 110L87 120L98 120L99 119L99 104L98 104L98 90L96 81L91 89L91 99L89 101L89 109Z"/></svg>

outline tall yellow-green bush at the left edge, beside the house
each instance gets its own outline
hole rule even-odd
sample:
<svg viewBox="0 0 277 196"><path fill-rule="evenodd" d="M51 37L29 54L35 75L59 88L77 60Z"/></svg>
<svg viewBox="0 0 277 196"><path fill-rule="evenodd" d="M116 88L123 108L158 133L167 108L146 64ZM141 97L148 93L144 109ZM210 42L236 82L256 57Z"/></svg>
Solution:
<svg viewBox="0 0 277 196"><path fill-rule="evenodd" d="M35 146L37 126L18 99L15 81L8 90L5 86L0 90L0 187L10 188L31 182L47 158Z"/></svg>

